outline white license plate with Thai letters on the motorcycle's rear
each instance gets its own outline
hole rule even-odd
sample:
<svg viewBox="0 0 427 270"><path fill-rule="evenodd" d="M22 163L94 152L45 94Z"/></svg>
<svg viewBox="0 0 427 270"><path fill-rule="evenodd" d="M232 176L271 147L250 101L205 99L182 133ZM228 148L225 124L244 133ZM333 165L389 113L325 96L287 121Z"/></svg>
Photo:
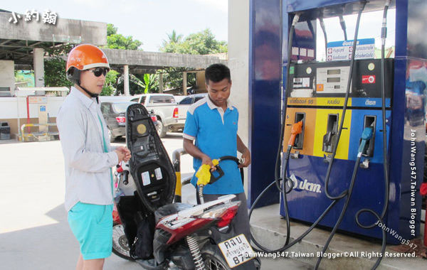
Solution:
<svg viewBox="0 0 427 270"><path fill-rule="evenodd" d="M239 234L218 244L228 266L233 268L253 259L253 249L244 234Z"/></svg>

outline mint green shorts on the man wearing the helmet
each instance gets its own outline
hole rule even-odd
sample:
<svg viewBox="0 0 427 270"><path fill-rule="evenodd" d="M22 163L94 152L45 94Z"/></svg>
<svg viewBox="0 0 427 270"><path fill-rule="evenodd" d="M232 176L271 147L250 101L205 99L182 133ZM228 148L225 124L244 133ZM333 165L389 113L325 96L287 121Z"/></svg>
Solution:
<svg viewBox="0 0 427 270"><path fill-rule="evenodd" d="M68 224L80 243L83 259L103 259L112 252L112 205L78 202L68 211Z"/></svg>

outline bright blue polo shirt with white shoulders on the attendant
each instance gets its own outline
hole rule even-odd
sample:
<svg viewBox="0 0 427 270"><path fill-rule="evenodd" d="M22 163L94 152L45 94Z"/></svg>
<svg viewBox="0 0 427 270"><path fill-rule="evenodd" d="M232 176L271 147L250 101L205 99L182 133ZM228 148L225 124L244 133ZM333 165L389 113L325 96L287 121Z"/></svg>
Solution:
<svg viewBox="0 0 427 270"><path fill-rule="evenodd" d="M197 148L211 159L221 156L237 156L237 123L238 110L231 106L225 112L211 102L209 97L192 104L186 114L184 138L196 141ZM193 158L194 171L201 166L201 159ZM243 193L242 178L234 161L221 161L219 166L224 175L215 183L204 187L205 194L236 194ZM217 175L214 172L214 175ZM191 183L196 186L194 173Z"/></svg>

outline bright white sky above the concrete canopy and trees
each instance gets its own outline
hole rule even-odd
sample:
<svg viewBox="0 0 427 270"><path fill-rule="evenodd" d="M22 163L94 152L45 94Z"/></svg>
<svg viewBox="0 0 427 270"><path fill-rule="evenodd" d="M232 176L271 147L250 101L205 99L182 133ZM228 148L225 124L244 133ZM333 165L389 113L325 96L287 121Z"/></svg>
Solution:
<svg viewBox="0 0 427 270"><path fill-rule="evenodd" d="M172 30L187 36L210 28L217 40L228 39L228 0L24 0L2 1L0 9L50 9L62 18L112 23L118 33L142 41L145 51L158 51Z"/></svg>

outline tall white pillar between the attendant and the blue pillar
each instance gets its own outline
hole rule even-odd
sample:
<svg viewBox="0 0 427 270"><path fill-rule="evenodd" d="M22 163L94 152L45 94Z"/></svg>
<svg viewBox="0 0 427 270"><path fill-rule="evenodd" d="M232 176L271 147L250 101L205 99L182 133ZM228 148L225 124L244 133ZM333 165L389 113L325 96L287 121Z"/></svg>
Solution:
<svg viewBox="0 0 427 270"><path fill-rule="evenodd" d="M238 108L238 135L248 146L249 136L249 1L228 0L228 67L231 70L231 101ZM248 173L245 170L245 191Z"/></svg>

